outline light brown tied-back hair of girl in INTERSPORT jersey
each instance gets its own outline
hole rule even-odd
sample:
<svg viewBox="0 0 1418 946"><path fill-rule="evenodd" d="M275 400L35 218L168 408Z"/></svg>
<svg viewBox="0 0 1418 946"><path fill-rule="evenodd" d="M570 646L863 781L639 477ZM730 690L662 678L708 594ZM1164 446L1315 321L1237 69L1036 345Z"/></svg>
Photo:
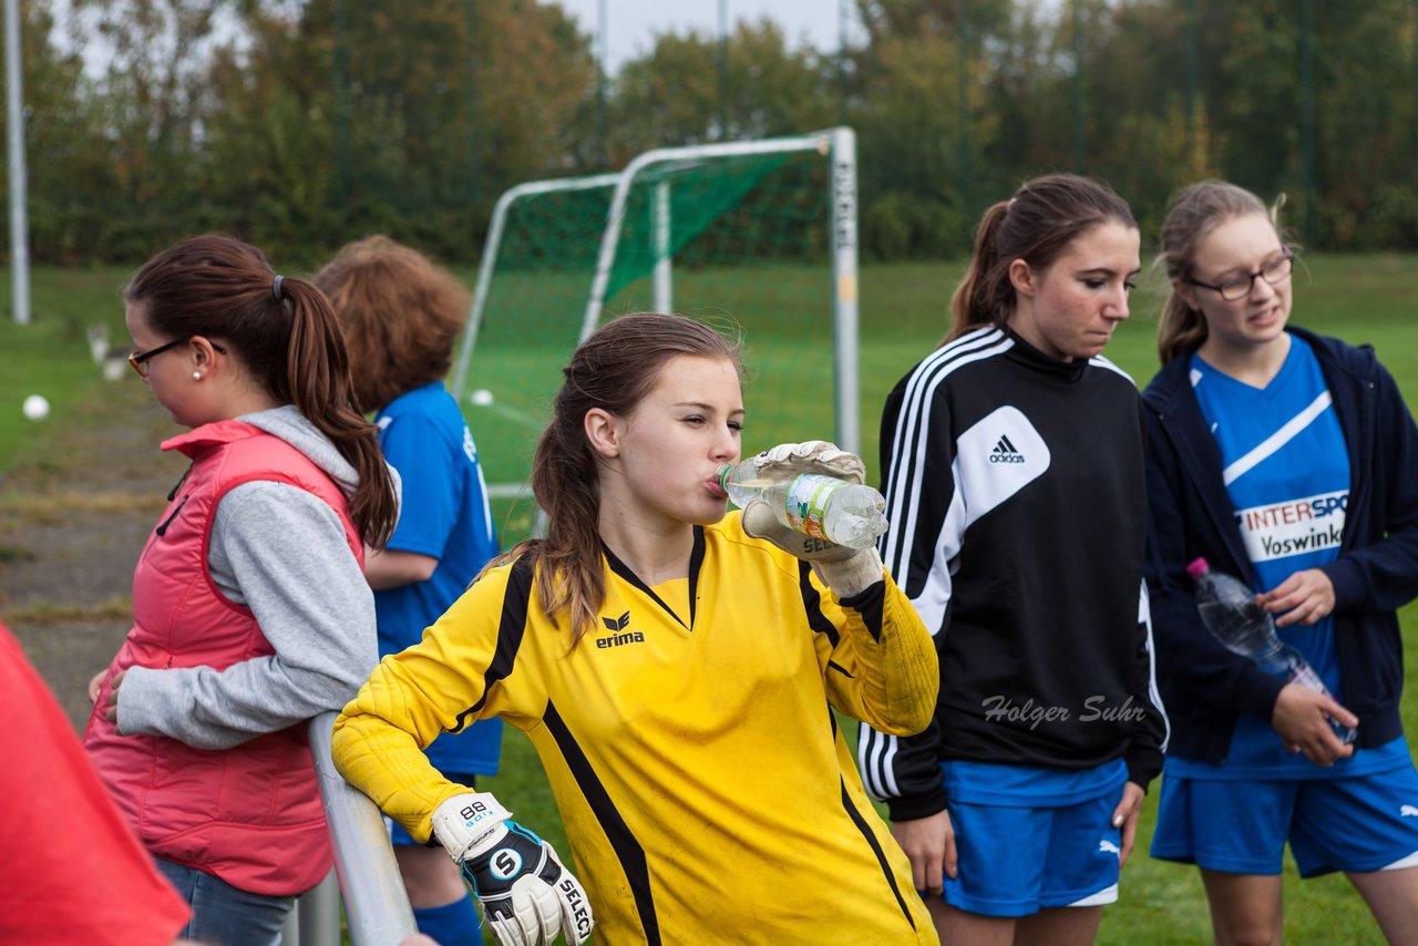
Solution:
<svg viewBox="0 0 1418 946"><path fill-rule="evenodd" d="M1161 251L1157 254L1157 262L1166 267L1167 279L1173 284L1157 322L1157 356L1163 365L1195 352L1207 340L1207 319L1177 292L1178 282L1195 277L1197 247L1211 231L1235 217L1263 214L1275 224L1283 203L1280 197L1266 211L1259 197L1224 180L1204 180L1173 199L1161 224Z"/></svg>

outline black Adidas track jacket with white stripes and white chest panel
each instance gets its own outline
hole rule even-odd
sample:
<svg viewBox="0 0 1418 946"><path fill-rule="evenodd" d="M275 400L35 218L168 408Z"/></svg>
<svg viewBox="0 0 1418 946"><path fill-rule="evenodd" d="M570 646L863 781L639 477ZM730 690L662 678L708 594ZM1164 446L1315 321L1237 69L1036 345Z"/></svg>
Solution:
<svg viewBox="0 0 1418 946"><path fill-rule="evenodd" d="M862 726L866 789L892 818L946 807L939 762L1086 769L1147 787L1167 720L1143 584L1137 387L1103 357L1049 359L976 329L886 399L882 557L940 657L919 736Z"/></svg>

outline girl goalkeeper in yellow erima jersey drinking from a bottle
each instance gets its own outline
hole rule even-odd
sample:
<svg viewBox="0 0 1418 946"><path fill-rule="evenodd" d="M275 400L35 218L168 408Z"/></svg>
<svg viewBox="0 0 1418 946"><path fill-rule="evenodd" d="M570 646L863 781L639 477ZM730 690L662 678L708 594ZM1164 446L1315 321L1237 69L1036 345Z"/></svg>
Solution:
<svg viewBox="0 0 1418 946"><path fill-rule="evenodd" d="M934 943L832 712L909 733L934 705L929 635L881 557L761 501L725 515L746 411L737 346L708 326L615 319L564 374L532 474L546 539L384 658L336 764L464 865L508 946L579 943L593 912L604 943ZM821 441L747 462L864 475ZM495 716L532 739L584 892L428 764L440 733Z"/></svg>

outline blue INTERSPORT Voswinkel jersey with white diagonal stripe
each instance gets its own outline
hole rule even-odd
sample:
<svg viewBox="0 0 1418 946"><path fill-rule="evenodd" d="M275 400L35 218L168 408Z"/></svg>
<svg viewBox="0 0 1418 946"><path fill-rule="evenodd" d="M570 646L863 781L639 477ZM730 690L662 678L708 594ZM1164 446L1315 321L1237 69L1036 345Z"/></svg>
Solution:
<svg viewBox="0 0 1418 946"><path fill-rule="evenodd" d="M1263 389L1191 356L1191 384L1221 448L1222 481L1255 566L1255 590L1269 591L1296 572L1339 556L1349 505L1349 452L1313 349L1290 338L1280 372ZM1276 628L1293 644L1340 703L1334 618ZM1402 740L1398 740L1402 743ZM1197 779L1347 777L1407 762L1390 743L1320 769L1285 752L1269 722L1241 713L1224 766L1168 757L1167 772ZM1400 749L1402 746L1398 746Z"/></svg>

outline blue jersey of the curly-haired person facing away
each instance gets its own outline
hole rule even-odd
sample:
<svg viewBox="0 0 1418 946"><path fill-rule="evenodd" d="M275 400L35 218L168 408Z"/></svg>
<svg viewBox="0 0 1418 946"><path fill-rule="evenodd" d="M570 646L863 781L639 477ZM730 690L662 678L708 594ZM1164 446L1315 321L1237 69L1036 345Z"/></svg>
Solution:
<svg viewBox="0 0 1418 946"><path fill-rule="evenodd" d="M384 458L403 479L394 552L438 559L427 581L374 591L379 654L396 654L423 640L498 553L488 489L472 433L441 382L414 389L374 418ZM440 736L428 759L441 772L496 774L502 720L479 722L467 732Z"/></svg>

